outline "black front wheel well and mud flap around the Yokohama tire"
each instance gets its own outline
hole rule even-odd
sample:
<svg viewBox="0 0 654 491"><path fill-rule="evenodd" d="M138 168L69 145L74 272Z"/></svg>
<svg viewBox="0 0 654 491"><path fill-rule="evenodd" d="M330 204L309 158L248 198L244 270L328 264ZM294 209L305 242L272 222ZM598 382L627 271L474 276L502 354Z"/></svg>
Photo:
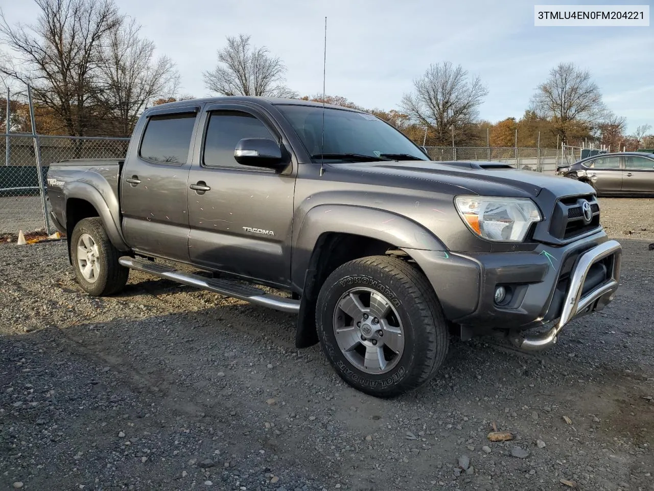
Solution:
<svg viewBox="0 0 654 491"><path fill-rule="evenodd" d="M326 232L318 237L304 278L296 331L298 348L305 348L318 342L315 308L318 293L327 277L341 264L361 257L378 255L395 255L402 259L411 259L396 246L371 237L339 232Z"/></svg>

